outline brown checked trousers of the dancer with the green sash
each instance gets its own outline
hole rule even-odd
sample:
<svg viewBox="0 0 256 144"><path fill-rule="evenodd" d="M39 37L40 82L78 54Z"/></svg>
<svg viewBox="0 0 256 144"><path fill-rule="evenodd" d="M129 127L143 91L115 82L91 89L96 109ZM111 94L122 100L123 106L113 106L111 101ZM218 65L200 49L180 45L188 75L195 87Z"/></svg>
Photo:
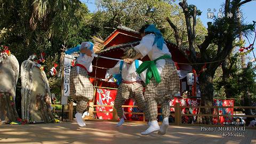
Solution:
<svg viewBox="0 0 256 144"><path fill-rule="evenodd" d="M177 68L171 59L165 59L165 66L161 73L161 82L150 79L145 90L145 103L149 121L157 120L157 105L162 106L163 118L170 116L170 100L180 90Z"/></svg>

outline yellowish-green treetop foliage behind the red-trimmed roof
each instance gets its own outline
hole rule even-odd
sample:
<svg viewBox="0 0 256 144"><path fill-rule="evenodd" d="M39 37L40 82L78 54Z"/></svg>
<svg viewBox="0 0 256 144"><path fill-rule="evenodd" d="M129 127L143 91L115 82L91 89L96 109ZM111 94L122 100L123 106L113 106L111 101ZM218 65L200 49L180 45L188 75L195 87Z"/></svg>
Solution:
<svg viewBox="0 0 256 144"><path fill-rule="evenodd" d="M96 2L99 11L93 15L93 27L99 30L98 34L104 38L118 25L139 30L146 23L154 23L167 41L175 43L173 30L165 20L166 17L169 17L178 27L183 44L188 44L185 17L182 9L177 4L172 3L173 1L97 0ZM193 5L190 5L190 7L193 7ZM197 12L197 15L199 15L200 11L197 10ZM199 44L207 34L207 30L200 19L197 19L196 31L198 33L196 44Z"/></svg>

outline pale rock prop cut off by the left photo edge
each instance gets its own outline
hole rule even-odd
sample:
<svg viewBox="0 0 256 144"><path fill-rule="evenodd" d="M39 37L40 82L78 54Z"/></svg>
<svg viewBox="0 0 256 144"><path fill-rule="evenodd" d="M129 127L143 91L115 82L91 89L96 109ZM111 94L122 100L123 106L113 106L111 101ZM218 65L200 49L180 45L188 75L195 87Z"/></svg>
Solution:
<svg viewBox="0 0 256 144"><path fill-rule="evenodd" d="M0 121L17 121L15 91L19 77L19 62L9 50L0 51Z"/></svg>

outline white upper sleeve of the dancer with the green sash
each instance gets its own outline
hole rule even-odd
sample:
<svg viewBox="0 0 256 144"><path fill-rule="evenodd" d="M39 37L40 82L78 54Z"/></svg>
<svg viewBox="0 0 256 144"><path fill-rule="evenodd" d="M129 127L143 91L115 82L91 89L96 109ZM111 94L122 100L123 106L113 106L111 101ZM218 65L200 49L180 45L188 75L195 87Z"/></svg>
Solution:
<svg viewBox="0 0 256 144"><path fill-rule="evenodd" d="M134 49L138 52L140 52L143 57L145 57L152 49L153 49L153 43L155 41L154 35L146 35L144 36L139 45L134 46Z"/></svg>

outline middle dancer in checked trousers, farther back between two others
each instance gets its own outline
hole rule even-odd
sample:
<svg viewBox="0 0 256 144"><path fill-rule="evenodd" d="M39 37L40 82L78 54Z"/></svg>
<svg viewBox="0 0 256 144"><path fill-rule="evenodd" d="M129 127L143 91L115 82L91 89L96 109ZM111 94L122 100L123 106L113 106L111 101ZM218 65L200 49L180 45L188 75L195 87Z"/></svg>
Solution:
<svg viewBox="0 0 256 144"><path fill-rule="evenodd" d="M125 52L125 56L123 58L133 58L137 54L138 52L131 48ZM114 107L117 111L117 115L120 118L120 121L116 126L121 126L124 123L122 105L129 98L133 98L136 101L138 107L143 112L145 112L143 86L141 85L140 81L141 79L145 81L146 73L142 73L140 75L141 79L140 76L136 73L136 70L141 63L142 61L139 60L135 60L130 63L119 61L117 62L115 67L108 70L110 77L106 78L105 81L109 81L109 79L114 76L116 79L118 79L118 83L121 83L118 87L114 104ZM145 117L147 119L146 113Z"/></svg>

